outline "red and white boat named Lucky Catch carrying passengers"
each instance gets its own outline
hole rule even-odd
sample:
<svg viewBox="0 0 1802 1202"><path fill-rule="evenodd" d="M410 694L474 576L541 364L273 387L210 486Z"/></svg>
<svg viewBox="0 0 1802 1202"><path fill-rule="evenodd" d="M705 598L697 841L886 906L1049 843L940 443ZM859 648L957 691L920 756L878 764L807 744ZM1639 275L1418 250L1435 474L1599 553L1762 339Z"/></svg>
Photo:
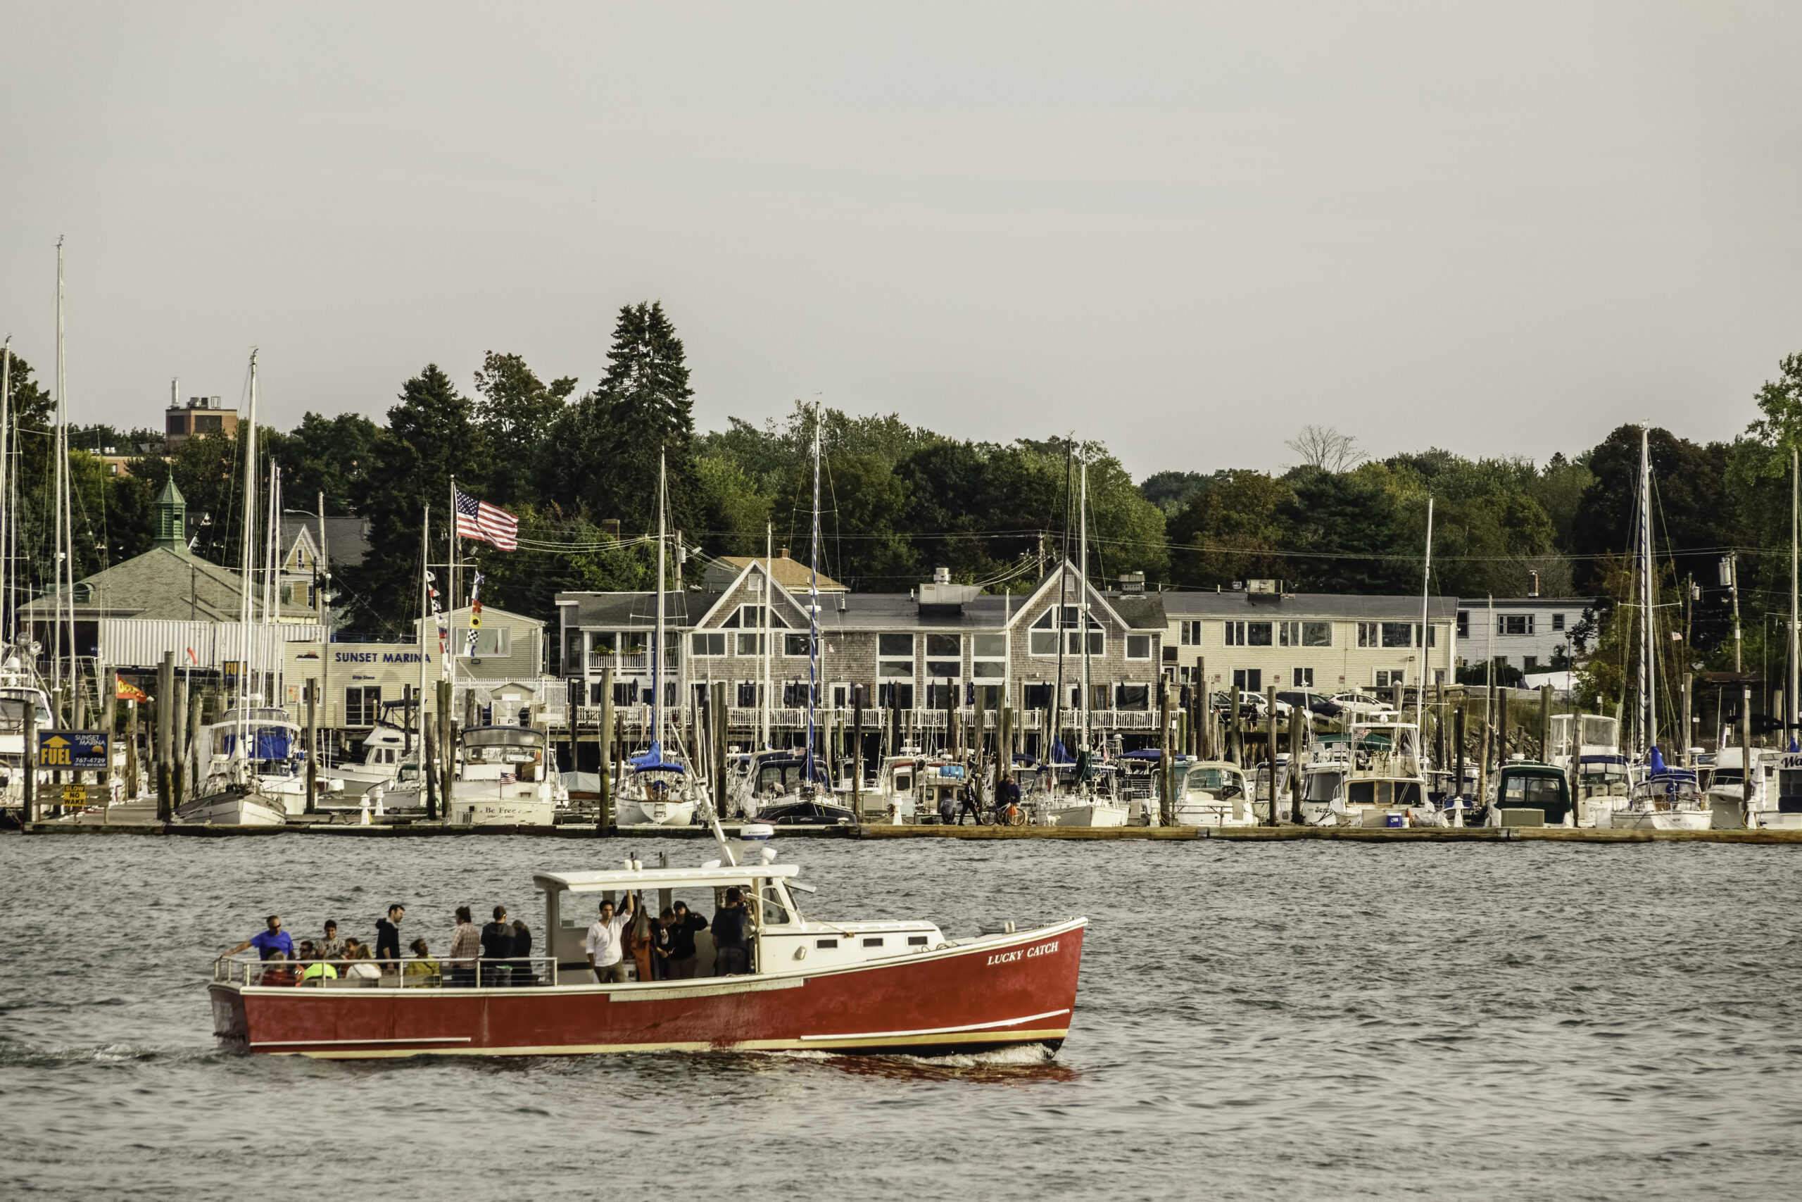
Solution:
<svg viewBox="0 0 1802 1202"><path fill-rule="evenodd" d="M213 1033L229 1047L276 1056L569 1056L651 1051L811 1051L968 1054L1061 1047L1070 1033L1083 935L1072 917L1034 930L951 937L917 917L822 921L813 892L775 849L739 863L712 820L719 858L692 869L541 870L542 953L503 962L445 961L452 973L402 971L303 986L254 953L214 962ZM658 894L708 912L723 890L748 903L748 962L739 975L701 964L683 980L600 984L584 933L602 897ZM268 980L268 984L265 984ZM321 982L321 984L314 984ZM447 989L458 984L465 988Z"/></svg>

